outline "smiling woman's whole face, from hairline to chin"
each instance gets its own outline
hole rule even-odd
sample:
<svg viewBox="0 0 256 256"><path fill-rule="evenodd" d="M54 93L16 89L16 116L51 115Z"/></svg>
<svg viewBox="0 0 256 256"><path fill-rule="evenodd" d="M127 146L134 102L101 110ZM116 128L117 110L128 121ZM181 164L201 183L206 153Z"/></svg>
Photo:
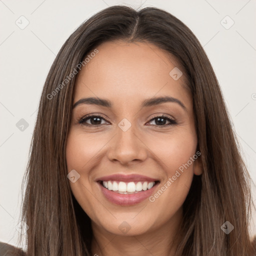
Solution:
<svg viewBox="0 0 256 256"><path fill-rule="evenodd" d="M101 233L177 226L193 174L201 173L184 75L150 43L105 42L97 50L76 80L73 104L95 99L72 112L66 146L72 193Z"/></svg>

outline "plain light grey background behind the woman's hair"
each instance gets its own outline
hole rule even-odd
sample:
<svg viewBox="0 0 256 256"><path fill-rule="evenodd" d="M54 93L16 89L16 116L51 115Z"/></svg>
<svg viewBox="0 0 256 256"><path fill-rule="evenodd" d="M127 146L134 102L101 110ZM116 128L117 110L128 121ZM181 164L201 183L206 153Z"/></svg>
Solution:
<svg viewBox="0 0 256 256"><path fill-rule="evenodd" d="M255 0L0 0L0 241L17 242L21 178L50 65L80 23L114 4L160 7L194 32L221 85L242 154L256 183ZM21 15L29 21L24 29L15 23L25 24ZM234 21L229 29L224 27L231 24L226 15ZM16 127L21 118L28 123L23 131ZM253 214L251 232L256 233Z"/></svg>

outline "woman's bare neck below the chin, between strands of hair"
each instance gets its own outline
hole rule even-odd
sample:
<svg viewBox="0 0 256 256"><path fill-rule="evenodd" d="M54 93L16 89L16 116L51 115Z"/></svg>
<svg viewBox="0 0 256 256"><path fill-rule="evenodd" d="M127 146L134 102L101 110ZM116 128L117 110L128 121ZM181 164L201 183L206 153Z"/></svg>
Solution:
<svg viewBox="0 0 256 256"><path fill-rule="evenodd" d="M91 252L94 256L174 256L176 242L174 236L179 231L182 209L160 227L138 235L116 235L92 224Z"/></svg>

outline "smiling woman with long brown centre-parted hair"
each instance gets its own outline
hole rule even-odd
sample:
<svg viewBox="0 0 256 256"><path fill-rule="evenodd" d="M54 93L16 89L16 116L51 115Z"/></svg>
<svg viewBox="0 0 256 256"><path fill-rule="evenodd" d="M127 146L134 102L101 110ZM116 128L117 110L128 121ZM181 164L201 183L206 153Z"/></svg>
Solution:
<svg viewBox="0 0 256 256"><path fill-rule="evenodd" d="M218 81L164 10L111 6L69 36L30 150L27 255L255 254L250 178Z"/></svg>

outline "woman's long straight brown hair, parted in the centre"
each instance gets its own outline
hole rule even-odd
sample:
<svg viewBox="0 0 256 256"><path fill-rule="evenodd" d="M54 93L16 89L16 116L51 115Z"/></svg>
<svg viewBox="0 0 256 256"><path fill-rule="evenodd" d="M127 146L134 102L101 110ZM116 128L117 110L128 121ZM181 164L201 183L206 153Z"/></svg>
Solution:
<svg viewBox="0 0 256 256"><path fill-rule="evenodd" d="M175 255L251 255L250 177L211 64L195 35L175 16L155 7L127 6L108 7L82 23L49 70L22 185L27 255L90 254L90 219L72 195L66 176L76 74L65 79L96 46L116 39L152 43L175 56L193 98L203 173L194 175L184 201ZM221 230L225 221L234 226L229 234Z"/></svg>

